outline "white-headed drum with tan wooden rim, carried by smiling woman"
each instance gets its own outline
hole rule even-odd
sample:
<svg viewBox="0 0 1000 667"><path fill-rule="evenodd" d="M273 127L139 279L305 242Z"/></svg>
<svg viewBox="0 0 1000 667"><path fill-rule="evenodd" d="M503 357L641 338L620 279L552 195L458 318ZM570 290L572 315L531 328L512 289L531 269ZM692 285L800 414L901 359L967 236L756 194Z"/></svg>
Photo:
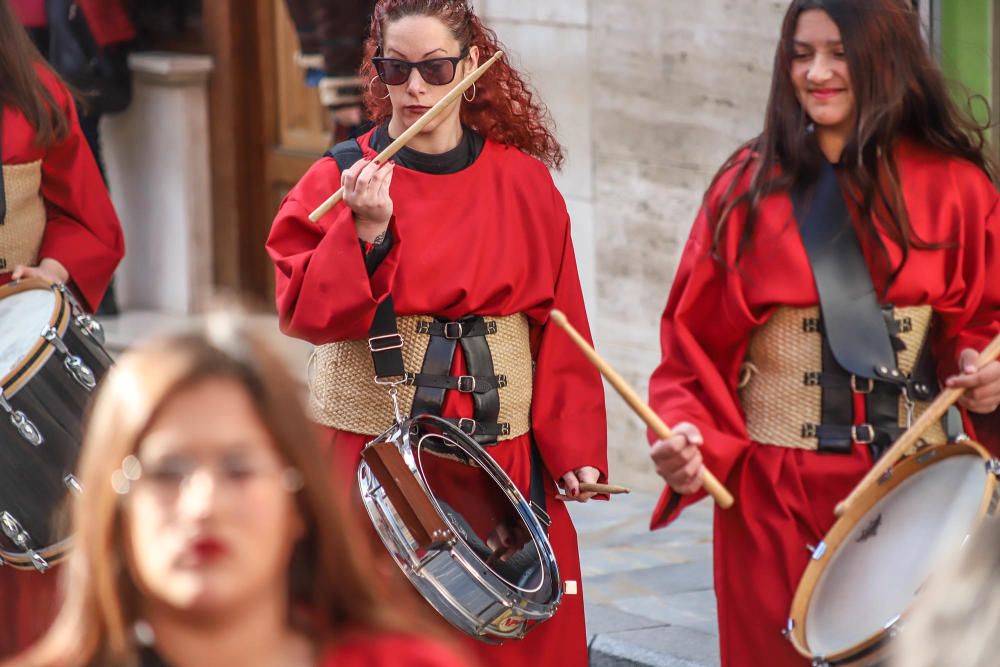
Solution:
<svg viewBox="0 0 1000 667"><path fill-rule="evenodd" d="M812 664L883 658L917 592L996 511L1000 462L980 445L928 447L869 487L812 549L786 637Z"/></svg>

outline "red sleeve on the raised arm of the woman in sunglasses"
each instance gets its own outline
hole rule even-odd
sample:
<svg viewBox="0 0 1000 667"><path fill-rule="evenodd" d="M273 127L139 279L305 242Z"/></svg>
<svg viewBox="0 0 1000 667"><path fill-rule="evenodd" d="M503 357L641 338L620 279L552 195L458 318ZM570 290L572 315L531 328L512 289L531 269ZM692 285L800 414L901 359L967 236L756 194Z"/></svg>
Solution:
<svg viewBox="0 0 1000 667"><path fill-rule="evenodd" d="M316 345L368 337L375 308L392 289L403 242L392 220L393 246L369 279L347 206L309 220L339 182L333 159L314 164L281 203L267 239L282 330Z"/></svg>

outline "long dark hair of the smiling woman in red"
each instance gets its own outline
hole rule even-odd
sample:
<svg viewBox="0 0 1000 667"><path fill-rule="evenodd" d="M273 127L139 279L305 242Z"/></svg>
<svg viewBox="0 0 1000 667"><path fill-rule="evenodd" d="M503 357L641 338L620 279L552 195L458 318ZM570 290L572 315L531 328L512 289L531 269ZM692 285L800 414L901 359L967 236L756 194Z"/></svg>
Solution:
<svg viewBox="0 0 1000 667"><path fill-rule="evenodd" d="M875 241L891 284L911 247L940 247L912 230L899 184L894 147L914 139L946 155L968 160L997 182L997 168L985 153L986 128L959 111L921 35L920 17L905 0L793 0L785 13L774 56L774 74L764 131L741 146L716 174L734 178L717 206L706 206L714 224L714 252L722 257L725 228L733 212L746 207L737 261L753 236L760 202L812 182L824 160L810 119L791 79L795 29L808 10L826 12L840 29L851 73L857 119L841 162L842 177L860 212L863 230ZM736 195L749 175L749 188ZM706 204L707 204L706 200ZM876 225L875 218L879 218ZM893 267L878 227L902 250Z"/></svg>

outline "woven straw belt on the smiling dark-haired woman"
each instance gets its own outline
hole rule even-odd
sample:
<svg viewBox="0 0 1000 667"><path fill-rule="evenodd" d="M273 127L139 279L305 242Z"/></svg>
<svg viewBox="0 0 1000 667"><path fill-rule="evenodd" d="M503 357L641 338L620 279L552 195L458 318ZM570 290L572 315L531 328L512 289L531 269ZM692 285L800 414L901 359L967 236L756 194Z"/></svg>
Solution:
<svg viewBox="0 0 1000 667"><path fill-rule="evenodd" d="M906 349L897 353L897 367L911 373L930 326L930 306L894 309L901 322L898 337ZM768 445L794 449L816 449L818 439L802 434L803 424L822 423L822 387L805 384L806 373L823 369L822 339L818 327L819 308L778 308L770 319L754 330L750 349L740 373L740 402L746 415L750 439ZM899 426L906 426L906 409L899 399ZM917 402L913 419L929 403ZM938 424L925 435L930 444L944 443L946 436Z"/></svg>

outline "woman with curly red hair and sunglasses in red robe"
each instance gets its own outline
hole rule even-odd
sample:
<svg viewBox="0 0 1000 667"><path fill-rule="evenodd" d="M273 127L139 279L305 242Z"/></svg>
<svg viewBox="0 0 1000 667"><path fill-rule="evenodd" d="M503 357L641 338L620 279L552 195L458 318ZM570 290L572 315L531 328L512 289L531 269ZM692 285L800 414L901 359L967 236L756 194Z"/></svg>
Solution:
<svg viewBox="0 0 1000 667"><path fill-rule="evenodd" d="M589 500L580 483L606 479L607 429L599 376L549 325L560 308L588 331L569 216L546 168L562 162L546 112L501 59L393 162L373 162L500 48L465 0L378 2L361 70L375 128L299 181L267 247L283 329L319 346L313 407L346 460L392 421L368 341L391 298L402 411L453 420L525 495L537 447L560 575L579 582L558 500ZM310 222L338 184L343 203ZM499 539L510 547L513 536ZM582 597L563 596L523 640L475 646L492 664L585 665Z"/></svg>

